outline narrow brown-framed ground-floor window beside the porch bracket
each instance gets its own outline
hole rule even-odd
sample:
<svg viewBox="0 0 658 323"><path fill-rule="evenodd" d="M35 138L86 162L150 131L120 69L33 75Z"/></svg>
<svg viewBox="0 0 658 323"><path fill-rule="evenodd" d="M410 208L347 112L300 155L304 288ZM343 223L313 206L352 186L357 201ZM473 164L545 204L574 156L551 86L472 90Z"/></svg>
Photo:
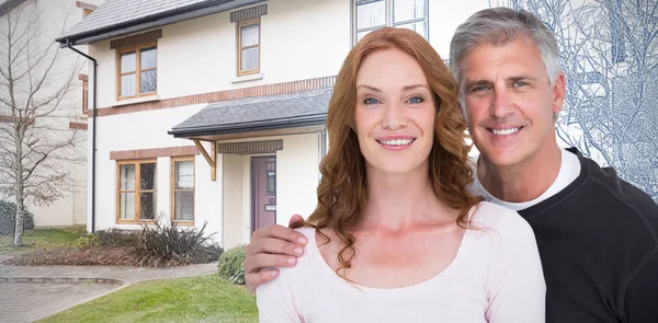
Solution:
<svg viewBox="0 0 658 323"><path fill-rule="evenodd" d="M171 217L194 222L194 157L171 159Z"/></svg>

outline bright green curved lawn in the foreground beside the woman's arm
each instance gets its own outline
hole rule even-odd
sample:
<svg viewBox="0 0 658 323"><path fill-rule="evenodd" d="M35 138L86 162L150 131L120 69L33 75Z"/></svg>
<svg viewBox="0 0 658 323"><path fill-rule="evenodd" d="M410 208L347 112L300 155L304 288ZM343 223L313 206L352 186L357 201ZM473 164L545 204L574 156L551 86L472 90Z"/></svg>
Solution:
<svg viewBox="0 0 658 323"><path fill-rule="evenodd" d="M38 322L258 322L256 297L217 275L139 282Z"/></svg>

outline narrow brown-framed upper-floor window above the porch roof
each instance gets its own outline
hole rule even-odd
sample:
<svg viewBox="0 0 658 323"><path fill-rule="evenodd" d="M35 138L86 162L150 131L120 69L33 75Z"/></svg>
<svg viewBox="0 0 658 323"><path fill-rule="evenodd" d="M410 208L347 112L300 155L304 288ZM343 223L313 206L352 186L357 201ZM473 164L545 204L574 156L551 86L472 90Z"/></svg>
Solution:
<svg viewBox="0 0 658 323"><path fill-rule="evenodd" d="M260 19L238 23L238 76L260 72Z"/></svg>

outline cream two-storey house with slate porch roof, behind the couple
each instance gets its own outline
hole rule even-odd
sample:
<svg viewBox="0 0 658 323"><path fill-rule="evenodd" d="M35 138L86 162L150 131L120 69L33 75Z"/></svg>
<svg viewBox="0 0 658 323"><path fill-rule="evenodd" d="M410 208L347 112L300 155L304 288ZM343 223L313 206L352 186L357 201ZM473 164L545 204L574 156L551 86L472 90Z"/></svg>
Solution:
<svg viewBox="0 0 658 323"><path fill-rule="evenodd" d="M57 38L88 46L98 62L88 72L97 82L89 88L95 161L88 178L95 185L88 186L88 229L138 229L155 218L207 222L231 247L258 228L308 216L328 149L327 106L348 51L393 25L413 28L447 58L456 26L488 1L447 7L105 1Z"/></svg>

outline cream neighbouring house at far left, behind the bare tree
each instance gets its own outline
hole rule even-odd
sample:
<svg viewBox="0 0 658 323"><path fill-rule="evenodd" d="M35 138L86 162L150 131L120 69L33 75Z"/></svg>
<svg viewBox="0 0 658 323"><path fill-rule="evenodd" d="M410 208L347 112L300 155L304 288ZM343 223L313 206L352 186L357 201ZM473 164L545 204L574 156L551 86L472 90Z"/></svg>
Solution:
<svg viewBox="0 0 658 323"><path fill-rule="evenodd" d="M14 74L11 77L15 81L14 84L19 84L14 88L16 93L26 92L26 82L20 82L15 71L20 70L32 70L33 77L38 78L43 76L42 71L36 68L26 68L26 58L33 60L49 60L55 56L55 51L58 49L58 44L54 43L55 39L63 30L72 27L75 24L80 22L86 15L90 14L102 0L89 0L86 2L75 0L4 0L0 1L0 31L2 36L0 37L0 51L2 57L7 57L8 54L12 54L14 57L22 58L13 64ZM12 24L13 32L11 33L11 43L13 47L9 46L9 38L7 31ZM36 32L36 34L32 34ZM19 36L25 36L20 39ZM32 51L26 53L25 50L20 51L22 42L30 38L32 42ZM80 46L80 50L86 51L87 46ZM38 54L47 51L45 56L38 56ZM78 55L69 53L68 50L59 50L57 54L58 58L54 60L54 65L50 72L50 78L57 78L57 80L49 80L43 86L43 91L57 91L63 83L59 82L69 73L76 72L77 67L84 67L81 72L76 73L73 79L69 83L69 89L61 92L61 100L56 105L56 111L48 113L47 116L37 117L35 120L36 132L35 140L44 142L46 138L57 136L75 136L77 147L72 149L73 152L71 158L67 161L57 162L45 162L44 168L37 169L33 175L33 182L36 184L45 182L43 177L49 176L46 174L48 168L56 168L59 174L64 174L63 185L54 185L48 189L57 189L61 192L61 196L46 199L47 204L38 205L34 199L26 199L26 208L34 215L35 227L48 228L48 227L72 227L72 226L86 226L87 221L87 155L86 155L86 138L87 138L87 84L88 76L86 61L80 61ZM33 62L34 64L34 62ZM7 71L9 64L7 60L0 62L0 69ZM38 68L38 65L37 65ZM0 90L0 96L8 97L9 90L5 88L8 79L2 79ZM38 100L38 99L37 99ZM25 102L19 99L19 102ZM50 104L49 106L55 106ZM39 112L43 112L41 109ZM21 118L25 118L25 115L12 114L11 108L5 105L0 105L0 128L3 130L10 129L12 125L20 122ZM5 134L2 131L2 134ZM2 140L7 140L8 137L2 137ZM4 148L13 149L14 142L2 141L0 145L5 145ZM24 149L27 149L25 146ZM3 152L4 153L4 152ZM8 164L2 163L0 169L8 168ZM13 180L7 180L5 172L0 172L0 183L8 184L12 183ZM39 177L41 176L41 177ZM34 180L39 177L39 180ZM39 189L45 188L42 185ZM33 188L27 191L34 192ZM1 194L1 193L0 193ZM41 194L41 193L36 193ZM49 195L50 192L46 192L45 195ZM44 194L41 194L44 196ZM0 195L0 199L7 199L14 201L13 194Z"/></svg>

